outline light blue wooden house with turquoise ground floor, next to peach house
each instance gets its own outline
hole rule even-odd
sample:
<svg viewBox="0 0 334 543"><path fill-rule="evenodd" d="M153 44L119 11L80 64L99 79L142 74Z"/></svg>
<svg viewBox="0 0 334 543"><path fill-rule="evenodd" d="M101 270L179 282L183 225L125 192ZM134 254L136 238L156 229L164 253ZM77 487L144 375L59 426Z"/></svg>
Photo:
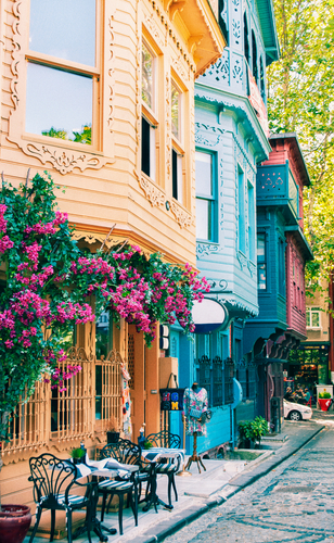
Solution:
<svg viewBox="0 0 334 543"><path fill-rule="evenodd" d="M235 377L255 413L256 371L243 357L244 326L258 315L256 174L271 151L266 66L279 56L271 0L219 0L217 16L228 47L195 85L197 267L229 318L193 343L177 329L170 337L179 384L206 387L214 413L198 452L234 442Z"/></svg>

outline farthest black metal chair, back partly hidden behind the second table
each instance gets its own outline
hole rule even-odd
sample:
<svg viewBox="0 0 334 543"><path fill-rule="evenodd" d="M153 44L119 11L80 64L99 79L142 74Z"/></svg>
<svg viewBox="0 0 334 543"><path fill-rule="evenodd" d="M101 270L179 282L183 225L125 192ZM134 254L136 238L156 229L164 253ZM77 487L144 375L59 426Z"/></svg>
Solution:
<svg viewBox="0 0 334 543"><path fill-rule="evenodd" d="M153 446L167 447L167 449L180 449L181 438L176 433L163 430L158 433L150 433L146 438L146 442L151 443ZM178 501L178 492L175 482L175 473L180 469L181 455L176 458L170 458L170 462L162 462L156 465L156 473L163 473L168 477L168 505L171 506L171 487L174 488L176 501Z"/></svg>

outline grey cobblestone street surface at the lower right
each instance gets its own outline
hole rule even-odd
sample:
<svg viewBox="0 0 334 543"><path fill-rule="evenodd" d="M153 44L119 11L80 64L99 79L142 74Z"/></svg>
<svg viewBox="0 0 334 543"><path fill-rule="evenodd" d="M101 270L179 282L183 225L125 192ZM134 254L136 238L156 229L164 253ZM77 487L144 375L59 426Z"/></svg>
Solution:
<svg viewBox="0 0 334 543"><path fill-rule="evenodd" d="M165 543L330 543L334 540L334 427Z"/></svg>

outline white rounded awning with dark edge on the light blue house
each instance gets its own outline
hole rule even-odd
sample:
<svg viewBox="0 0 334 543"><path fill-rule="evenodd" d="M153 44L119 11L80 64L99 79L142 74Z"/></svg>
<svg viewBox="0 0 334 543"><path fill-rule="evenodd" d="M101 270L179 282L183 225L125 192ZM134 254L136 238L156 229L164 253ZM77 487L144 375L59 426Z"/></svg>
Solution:
<svg viewBox="0 0 334 543"><path fill-rule="evenodd" d="M210 298L204 298L202 302L194 302L192 317L195 325L194 333L224 330L230 323L226 306Z"/></svg>

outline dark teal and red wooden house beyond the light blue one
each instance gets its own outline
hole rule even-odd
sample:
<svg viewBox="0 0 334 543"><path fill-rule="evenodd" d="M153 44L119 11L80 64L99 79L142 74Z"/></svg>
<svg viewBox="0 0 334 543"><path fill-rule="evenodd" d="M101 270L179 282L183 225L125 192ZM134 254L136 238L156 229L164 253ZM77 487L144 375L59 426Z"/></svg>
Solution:
<svg viewBox="0 0 334 543"><path fill-rule="evenodd" d="M245 358L258 371L256 413L277 429L283 418L283 364L306 339L303 189L310 184L296 134L270 136L269 160L257 168L259 314L247 320Z"/></svg>

